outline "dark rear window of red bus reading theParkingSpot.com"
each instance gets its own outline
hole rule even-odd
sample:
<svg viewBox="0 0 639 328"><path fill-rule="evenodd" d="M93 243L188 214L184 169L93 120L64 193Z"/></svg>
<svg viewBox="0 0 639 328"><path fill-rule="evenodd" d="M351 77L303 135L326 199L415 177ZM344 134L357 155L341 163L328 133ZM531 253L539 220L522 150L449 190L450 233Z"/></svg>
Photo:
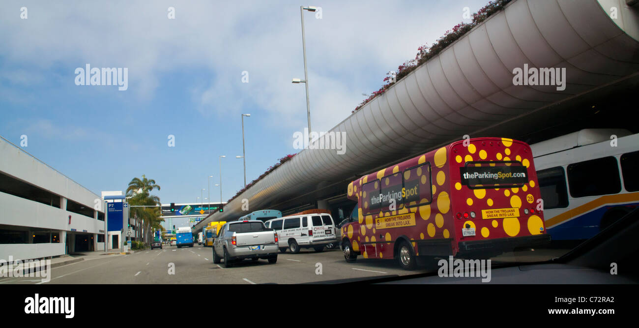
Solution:
<svg viewBox="0 0 639 328"><path fill-rule="evenodd" d="M479 165L477 165L479 164ZM459 168L461 184L470 189L521 187L528 182L528 170L521 162L466 162Z"/></svg>

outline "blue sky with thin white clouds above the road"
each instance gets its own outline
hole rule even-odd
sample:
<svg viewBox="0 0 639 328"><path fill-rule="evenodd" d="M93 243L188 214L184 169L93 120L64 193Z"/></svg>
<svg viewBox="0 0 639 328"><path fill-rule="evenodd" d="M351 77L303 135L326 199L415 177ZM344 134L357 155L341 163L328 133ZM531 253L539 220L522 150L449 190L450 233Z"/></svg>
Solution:
<svg viewBox="0 0 639 328"><path fill-rule="evenodd" d="M487 2L305 4L321 7L304 12L312 130ZM0 136L98 195L146 175L164 204L220 201L226 155L226 201L244 184L241 114L247 183L307 127L293 1L2 1L0 45ZM127 68L127 89L77 85L87 64Z"/></svg>

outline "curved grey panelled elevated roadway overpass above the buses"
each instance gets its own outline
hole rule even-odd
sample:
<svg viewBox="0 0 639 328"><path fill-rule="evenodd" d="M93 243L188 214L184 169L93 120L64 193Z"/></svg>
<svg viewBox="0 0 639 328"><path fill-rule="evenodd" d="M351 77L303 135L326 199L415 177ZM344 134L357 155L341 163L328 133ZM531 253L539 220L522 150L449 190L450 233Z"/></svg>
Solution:
<svg viewBox="0 0 639 328"><path fill-rule="evenodd" d="M196 230L240 217L244 198L251 211L346 205L351 180L465 134L532 143L583 118L629 124L619 115L636 110L624 99L639 90L638 15L625 0L512 1L331 129L346 132L346 153L302 150ZM525 66L565 68L565 88L514 85Z"/></svg>

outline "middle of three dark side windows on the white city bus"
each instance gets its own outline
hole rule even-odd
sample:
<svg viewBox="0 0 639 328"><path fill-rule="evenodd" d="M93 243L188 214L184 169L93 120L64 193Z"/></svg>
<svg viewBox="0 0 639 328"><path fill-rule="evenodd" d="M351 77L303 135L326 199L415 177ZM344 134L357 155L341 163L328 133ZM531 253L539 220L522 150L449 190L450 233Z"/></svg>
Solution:
<svg viewBox="0 0 639 328"><path fill-rule="evenodd" d="M568 166L568 186L574 198L617 194L621 191L617 159L584 160Z"/></svg>

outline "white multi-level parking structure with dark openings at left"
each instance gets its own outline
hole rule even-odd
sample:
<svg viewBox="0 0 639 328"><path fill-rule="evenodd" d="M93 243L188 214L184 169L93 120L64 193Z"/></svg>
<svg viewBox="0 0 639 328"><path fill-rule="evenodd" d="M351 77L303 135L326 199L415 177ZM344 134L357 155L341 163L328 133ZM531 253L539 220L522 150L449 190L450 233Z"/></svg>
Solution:
<svg viewBox="0 0 639 328"><path fill-rule="evenodd" d="M0 137L0 260L104 249L101 196Z"/></svg>

